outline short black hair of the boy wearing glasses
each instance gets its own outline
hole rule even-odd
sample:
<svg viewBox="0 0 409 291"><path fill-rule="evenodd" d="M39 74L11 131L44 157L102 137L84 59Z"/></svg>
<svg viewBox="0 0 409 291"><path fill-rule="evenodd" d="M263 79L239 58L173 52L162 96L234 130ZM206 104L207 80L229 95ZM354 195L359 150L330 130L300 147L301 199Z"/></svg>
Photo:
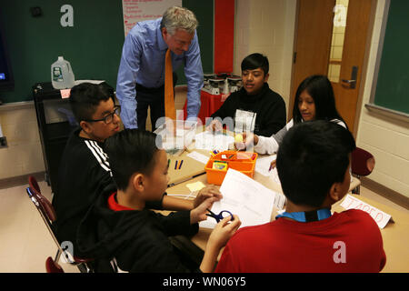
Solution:
<svg viewBox="0 0 409 291"><path fill-rule="evenodd" d="M76 121L92 119L101 101L109 98L115 102L114 89L105 84L81 83L72 87L69 102Z"/></svg>

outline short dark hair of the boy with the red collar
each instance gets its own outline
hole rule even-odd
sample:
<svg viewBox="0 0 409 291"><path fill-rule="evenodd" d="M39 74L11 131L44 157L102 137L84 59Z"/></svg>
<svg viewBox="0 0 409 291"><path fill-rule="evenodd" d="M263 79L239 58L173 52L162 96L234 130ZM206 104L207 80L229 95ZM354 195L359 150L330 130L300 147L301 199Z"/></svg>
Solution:
<svg viewBox="0 0 409 291"><path fill-rule="evenodd" d="M128 187L129 179L135 173L150 175L155 168L155 153L159 150L152 132L142 129L124 129L105 140L112 175L119 190Z"/></svg>

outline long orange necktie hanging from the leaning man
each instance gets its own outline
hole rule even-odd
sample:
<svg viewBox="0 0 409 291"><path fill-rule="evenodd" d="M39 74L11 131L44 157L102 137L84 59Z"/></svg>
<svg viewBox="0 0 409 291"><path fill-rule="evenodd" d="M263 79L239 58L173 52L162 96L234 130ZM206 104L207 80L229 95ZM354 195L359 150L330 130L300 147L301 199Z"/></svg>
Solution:
<svg viewBox="0 0 409 291"><path fill-rule="evenodd" d="M174 71L172 69L172 55L167 49L165 55L165 116L176 119L174 98Z"/></svg>

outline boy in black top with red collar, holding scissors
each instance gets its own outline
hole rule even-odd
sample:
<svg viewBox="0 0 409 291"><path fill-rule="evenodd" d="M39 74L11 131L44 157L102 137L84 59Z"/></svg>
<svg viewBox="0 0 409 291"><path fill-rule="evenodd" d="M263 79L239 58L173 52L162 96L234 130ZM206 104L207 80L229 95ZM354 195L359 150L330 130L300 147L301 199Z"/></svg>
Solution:
<svg viewBox="0 0 409 291"><path fill-rule="evenodd" d="M195 271L176 255L167 236L195 235L216 197L169 216L145 209L146 202L163 196L168 183L166 153L156 140L153 133L125 129L105 142L116 188L105 188L77 235L80 251L95 258L97 272ZM241 224L237 216L229 221L225 217L214 228L197 271L213 271L220 249Z"/></svg>

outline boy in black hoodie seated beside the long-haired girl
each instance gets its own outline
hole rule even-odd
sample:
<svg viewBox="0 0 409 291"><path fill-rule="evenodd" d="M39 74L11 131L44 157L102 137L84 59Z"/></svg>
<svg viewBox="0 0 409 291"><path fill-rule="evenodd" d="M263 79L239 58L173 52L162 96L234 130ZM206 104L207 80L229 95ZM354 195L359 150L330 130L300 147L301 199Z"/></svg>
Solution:
<svg viewBox="0 0 409 291"><path fill-rule="evenodd" d="M242 61L243 87L229 95L214 112L208 130L219 131L222 125L234 124L234 132L252 132L271 136L285 125L285 103L267 84L269 64L266 56L248 55ZM225 120L229 117L231 120ZM232 130L232 129L230 129Z"/></svg>

